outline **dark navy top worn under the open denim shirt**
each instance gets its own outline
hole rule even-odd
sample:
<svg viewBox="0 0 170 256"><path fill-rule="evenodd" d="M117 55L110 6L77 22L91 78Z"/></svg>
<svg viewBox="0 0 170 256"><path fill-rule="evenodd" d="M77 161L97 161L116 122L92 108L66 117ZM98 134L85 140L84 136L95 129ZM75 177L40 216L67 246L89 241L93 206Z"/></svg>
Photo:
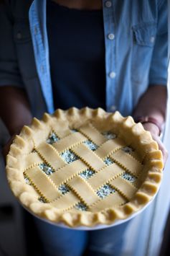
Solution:
<svg viewBox="0 0 170 256"><path fill-rule="evenodd" d="M49 63L55 109L105 109L103 11L47 1Z"/></svg>

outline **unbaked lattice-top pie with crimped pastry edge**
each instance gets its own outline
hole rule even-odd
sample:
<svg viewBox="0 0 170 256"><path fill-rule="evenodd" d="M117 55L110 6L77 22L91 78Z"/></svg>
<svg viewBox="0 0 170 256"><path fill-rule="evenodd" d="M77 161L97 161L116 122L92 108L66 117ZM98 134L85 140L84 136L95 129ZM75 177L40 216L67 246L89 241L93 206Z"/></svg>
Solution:
<svg viewBox="0 0 170 256"><path fill-rule="evenodd" d="M158 144L141 123L89 107L34 118L6 159L22 205L71 227L128 219L154 198L162 169Z"/></svg>

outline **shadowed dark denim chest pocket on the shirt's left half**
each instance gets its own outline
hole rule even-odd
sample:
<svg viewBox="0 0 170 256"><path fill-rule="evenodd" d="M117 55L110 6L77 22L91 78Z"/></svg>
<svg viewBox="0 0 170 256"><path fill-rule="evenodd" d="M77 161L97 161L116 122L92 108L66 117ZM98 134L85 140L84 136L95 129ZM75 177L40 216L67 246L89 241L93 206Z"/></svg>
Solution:
<svg viewBox="0 0 170 256"><path fill-rule="evenodd" d="M25 21L14 22L13 32L19 71L24 80L32 79L37 76L37 69L29 23Z"/></svg>

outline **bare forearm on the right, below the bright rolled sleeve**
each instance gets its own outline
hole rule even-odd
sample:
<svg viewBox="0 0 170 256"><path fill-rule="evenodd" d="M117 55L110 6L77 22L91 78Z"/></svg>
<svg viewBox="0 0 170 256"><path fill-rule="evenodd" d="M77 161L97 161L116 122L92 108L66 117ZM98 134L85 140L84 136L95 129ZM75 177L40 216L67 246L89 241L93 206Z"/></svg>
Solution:
<svg viewBox="0 0 170 256"><path fill-rule="evenodd" d="M158 120L158 122L163 125L166 116L166 100L166 87L161 85L148 87L148 90L143 94L133 111L133 118L136 119L139 116L148 116Z"/></svg>

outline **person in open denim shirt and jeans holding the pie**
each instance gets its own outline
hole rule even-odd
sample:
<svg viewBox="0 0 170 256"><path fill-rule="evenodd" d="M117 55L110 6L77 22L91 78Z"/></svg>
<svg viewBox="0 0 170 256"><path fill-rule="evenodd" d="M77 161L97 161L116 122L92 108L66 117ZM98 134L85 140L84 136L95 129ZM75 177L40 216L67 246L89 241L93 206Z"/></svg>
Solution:
<svg viewBox="0 0 170 256"><path fill-rule="evenodd" d="M166 162L166 1L4 0L0 36L0 115L11 135L4 156L33 116L88 106L132 115ZM41 255L60 256L118 256L128 226L77 231L34 222Z"/></svg>

